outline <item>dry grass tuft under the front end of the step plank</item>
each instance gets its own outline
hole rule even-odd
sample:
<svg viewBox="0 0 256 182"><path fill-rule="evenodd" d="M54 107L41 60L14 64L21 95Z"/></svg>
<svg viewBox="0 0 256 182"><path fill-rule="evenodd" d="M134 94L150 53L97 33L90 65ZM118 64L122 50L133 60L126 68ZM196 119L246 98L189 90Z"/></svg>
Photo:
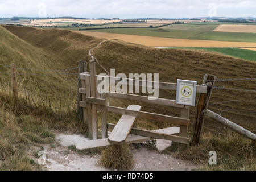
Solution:
<svg viewBox="0 0 256 182"><path fill-rule="evenodd" d="M112 170L129 170L134 165L133 156L127 144L106 147L101 152L100 162L102 166Z"/></svg>

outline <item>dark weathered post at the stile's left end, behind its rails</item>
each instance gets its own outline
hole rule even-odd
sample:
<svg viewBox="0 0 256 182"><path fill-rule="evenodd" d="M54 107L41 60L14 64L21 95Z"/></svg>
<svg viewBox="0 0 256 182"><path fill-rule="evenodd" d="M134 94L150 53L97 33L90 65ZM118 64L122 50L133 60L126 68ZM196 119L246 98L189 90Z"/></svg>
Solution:
<svg viewBox="0 0 256 182"><path fill-rule="evenodd" d="M79 61L79 69L77 76L77 117L80 121L83 121L83 108L79 106L79 102L82 101L82 94L79 93L79 88L82 87L81 80L79 79L79 74L86 72L86 68L86 61Z"/></svg>

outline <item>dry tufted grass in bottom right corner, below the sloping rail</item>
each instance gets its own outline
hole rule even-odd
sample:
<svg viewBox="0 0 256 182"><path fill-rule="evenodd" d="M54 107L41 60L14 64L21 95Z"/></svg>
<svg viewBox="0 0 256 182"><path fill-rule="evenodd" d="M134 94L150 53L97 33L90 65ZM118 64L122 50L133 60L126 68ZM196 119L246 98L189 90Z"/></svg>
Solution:
<svg viewBox="0 0 256 182"><path fill-rule="evenodd" d="M208 164L210 151L216 151L217 165ZM255 143L241 138L232 131L226 135L216 135L207 131L203 133L199 146L188 146L184 150L170 146L163 152L167 154L171 152L176 158L201 164L200 170L256 170Z"/></svg>

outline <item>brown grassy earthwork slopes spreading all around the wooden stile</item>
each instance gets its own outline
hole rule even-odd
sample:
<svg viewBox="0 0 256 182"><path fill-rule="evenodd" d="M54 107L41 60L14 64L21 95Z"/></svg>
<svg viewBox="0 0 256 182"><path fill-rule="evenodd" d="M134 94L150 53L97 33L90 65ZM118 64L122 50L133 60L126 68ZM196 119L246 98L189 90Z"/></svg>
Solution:
<svg viewBox="0 0 256 182"><path fill-rule="evenodd" d="M1 47L1 64L9 65L11 61L19 67L32 67L38 69L64 69L69 67L77 67L78 60L89 60L88 50L101 42L100 39L75 34L70 31L47 29L41 30L39 28L28 28L28 27L15 27L5 26L6 29L0 27L0 39L4 42ZM14 35L13 35L14 34ZM20 45L20 46L19 46ZM7 52L6 50L12 51ZM253 78L255 77L255 62L246 61L242 59L234 59L233 57L219 55L216 53L199 52L190 50L175 50L175 49L154 49L145 46L139 46L135 44L129 44L121 42L119 40L106 41L101 44L100 47L94 49L97 59L104 67L109 70L115 68L115 73L159 73L160 81L176 82L177 78L185 80L196 80L198 84L201 84L205 73L211 73L216 75L217 78ZM10 59L10 57L13 57ZM18 59L20 57L20 59ZM31 58L32 57L32 58ZM34 62L33 62L34 61ZM45 62L42 63L42 62ZM40 63L40 64L36 64ZM42 63L42 64L41 64ZM45 65L45 66L44 66ZM60 67L61 65L61 67ZM23 70L21 70L23 71ZM75 70L76 71L76 70ZM73 73L75 73L73 71ZM1 72L9 72L9 68L1 67ZM19 71L20 72L20 71ZM35 72L35 71L31 71ZM96 72L104 72L96 65ZM23 71L23 73L27 73ZM0 162L0 169L19 169L14 167L13 158L21 156L19 153L19 144L22 144L23 148L34 144L36 150L40 150L42 143L52 142L52 131L54 130L69 130L73 132L84 133L86 126L79 123L75 117L76 97L61 97L60 100L54 100L51 105L53 108L68 108L68 103L73 103L73 111L52 109L48 104L44 104L46 101L45 96L39 94L54 94L57 92L76 94L76 89L72 92L65 91L66 85L70 85L69 88L76 87L76 75L59 75L53 74L54 77L48 76L45 80L38 80L38 77L26 84L19 82L19 94L20 90L26 91L26 85L42 84L38 86L38 97L28 102L26 95L21 98L18 105L13 107L11 105L10 94L5 92L6 88L10 88L6 85L1 91L1 108L2 108L2 119L0 123L1 134L4 135L4 142L1 143L0 147L5 150L0 153L0 158L5 159L5 162ZM9 80L9 75L1 75ZM28 76L28 75L25 75ZM29 76L31 77L31 76ZM27 77L24 77L24 79ZM32 79L32 78L31 78ZM43 77L42 77L43 79ZM68 81L73 80L73 81ZM242 88L248 90L256 90L255 81L229 81L229 82L217 82L216 86L225 86L227 88ZM53 85L54 84L54 85ZM22 89L20 89L22 88ZM56 89L55 89L56 88ZM42 90L42 91L41 91ZM25 92L26 93L26 92ZM160 90L160 97L175 99L175 92ZM197 95L198 98L198 95ZM254 102L236 102L234 100L246 100L255 101L255 94L251 92L240 92L236 90L213 90L212 99L210 101L209 109L217 113L220 113L224 117L236 120L236 123L246 127L255 133L256 126L255 121L256 115L251 111L255 108ZM43 100L43 101L42 101ZM223 102L232 100L228 103L214 104L216 102ZM63 106L63 103L67 103ZM126 107L131 104L125 100L110 100L110 105ZM170 107L160 107L155 105L143 104L140 102L133 102L133 104L141 104L142 110L153 111L161 114L170 114L179 116L179 109L172 109ZM72 108L71 108L72 109ZM195 114L195 107L191 109L191 124L193 123L193 116ZM5 116L5 117L4 117ZM117 122L120 115L108 114L109 122ZM10 121L10 122L6 122ZM41 125L41 124L43 125ZM40 124L40 125L39 125ZM100 125L99 125L100 126ZM161 127L171 126L167 123L147 121L144 119L138 119L138 126L144 129L157 129ZM192 126L192 125L191 125ZM14 130L15 129L15 130ZM28 130L29 129L29 130ZM3 132L5 131L5 132ZM14 133L19 134L17 137ZM237 152L232 151L230 155L223 156L221 164L226 164L225 160L232 160L236 165L228 166L217 166L217 169L240 169L246 167L246 169L255 169L255 155L251 155L251 152L255 150L255 147L250 146L250 140L244 139L242 142L237 140L240 136L233 136L227 132L225 127L219 125L211 119L205 121L205 131L211 133L214 137L207 138L204 135L204 142L197 148L188 148L188 151L193 152L193 162L199 158L199 152L196 151L208 151L209 143L213 147L217 147L216 150L222 150L223 154L226 154L225 148L232 143L232 146L236 148L242 147L248 150L243 151L245 158L240 159ZM48 133L47 133L48 132ZM190 133L190 131L189 131ZM226 137L226 135L228 137ZM225 138L225 143L221 139ZM26 140L27 142L22 142ZM2 140L1 140L2 142ZM8 152L10 146L14 146L14 152ZM22 150L25 151L24 149ZM218 152L218 151L217 151ZM23 153L22 153L23 154ZM241 154L241 153L240 153ZM26 154L27 156L30 156ZM178 155L178 154L177 154ZM205 154L204 154L205 155ZM232 156L232 158L230 158ZM239 159L238 159L239 158ZM34 162L30 160L19 158L20 163L24 164L24 169L36 168ZM189 159L190 160L190 159ZM237 162L239 160L239 163ZM207 163L206 158L197 160L200 163ZM32 164L31 164L32 163ZM218 168L219 167L219 168ZM222 168L221 168L222 167ZM229 168L230 167L230 168ZM209 168L211 169L211 168Z"/></svg>

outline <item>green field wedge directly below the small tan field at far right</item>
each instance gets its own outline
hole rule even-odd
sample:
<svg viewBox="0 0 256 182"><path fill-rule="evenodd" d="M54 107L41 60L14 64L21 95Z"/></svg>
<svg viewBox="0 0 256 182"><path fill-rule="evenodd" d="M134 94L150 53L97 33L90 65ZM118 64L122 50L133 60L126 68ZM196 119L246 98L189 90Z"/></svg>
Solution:
<svg viewBox="0 0 256 182"><path fill-rule="evenodd" d="M256 42L256 34L240 32L215 32L208 31L203 34L191 36L189 39L196 40L220 40L234 42Z"/></svg>

